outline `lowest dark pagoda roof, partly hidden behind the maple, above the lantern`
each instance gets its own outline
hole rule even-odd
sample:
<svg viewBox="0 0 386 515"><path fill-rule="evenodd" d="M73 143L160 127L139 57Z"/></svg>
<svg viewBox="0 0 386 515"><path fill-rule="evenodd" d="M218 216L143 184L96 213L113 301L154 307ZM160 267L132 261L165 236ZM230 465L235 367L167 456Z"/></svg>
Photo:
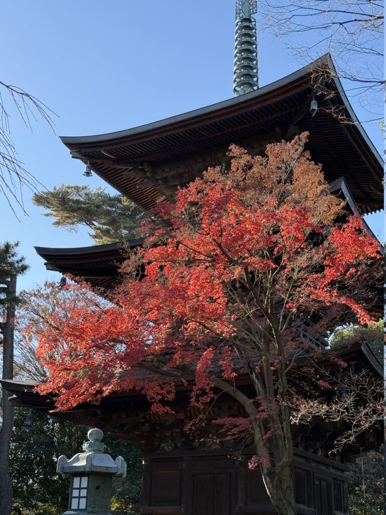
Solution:
<svg viewBox="0 0 386 515"><path fill-rule="evenodd" d="M335 370L340 368L337 358L349 363L350 366L358 367L358 370L370 370L378 377L382 377L383 375L381 364L378 362L369 346L363 342L346 344L332 351L327 350L319 356L318 363L323 368ZM293 373L296 374L296 371L294 370ZM151 414L149 402L141 392L135 390L110 393L108 396L104 397L98 405L82 403L72 409L53 411L51 414L55 417L71 420L76 424L94 425L100 427L103 431L112 431L118 439L127 439L132 441L134 445L142 447L143 441L151 441L151 427L154 424L166 424L167 426L168 424L178 422L178 420L185 423L186 420L184 421L184 419L189 416L191 417L192 414L190 411L192 408L189 408L187 399L191 392L192 382L194 382L194 380L188 380L187 384L177 387L176 399L172 401L174 415ZM34 381L2 380L0 383L2 387L10 393L9 399L13 406L28 407L46 413L56 408L55 396L41 396L34 391L34 387L37 384ZM241 388L250 388L248 377L240 376L238 378L238 385ZM225 402L226 409L233 409L233 401L231 398L225 399L225 397L222 396L221 399L222 402ZM214 406L214 408L220 409L220 411L222 410L223 412L224 405L220 403L217 408L216 406ZM217 413L217 415L216 413L214 418L220 416L220 412ZM198 413L195 414L195 416L197 415ZM238 416L242 416L242 414ZM323 421L321 423L322 431L325 431L325 424ZM342 431L339 427L335 429ZM329 427L329 431L331 430L334 430L334 428ZM183 432L182 427L181 432ZM374 445L372 448L379 447L379 443L382 441L382 433L379 433L380 434L373 442Z"/></svg>

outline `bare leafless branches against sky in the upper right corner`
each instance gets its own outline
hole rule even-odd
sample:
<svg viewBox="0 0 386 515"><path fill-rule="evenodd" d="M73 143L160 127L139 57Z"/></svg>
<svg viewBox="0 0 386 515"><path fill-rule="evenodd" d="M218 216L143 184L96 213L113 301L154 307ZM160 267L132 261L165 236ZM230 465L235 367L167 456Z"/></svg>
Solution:
<svg viewBox="0 0 386 515"><path fill-rule="evenodd" d="M356 84L357 104L364 110L377 106L375 120L382 118L383 2L262 0L261 10L265 29L283 39L295 59L304 65L330 53L346 90ZM342 113L332 114L346 121Z"/></svg>

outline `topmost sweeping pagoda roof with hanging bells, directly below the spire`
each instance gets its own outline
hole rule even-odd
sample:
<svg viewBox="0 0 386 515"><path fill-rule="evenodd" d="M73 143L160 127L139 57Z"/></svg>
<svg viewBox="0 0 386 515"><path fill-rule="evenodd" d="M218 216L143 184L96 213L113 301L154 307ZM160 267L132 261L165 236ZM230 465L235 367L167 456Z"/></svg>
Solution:
<svg viewBox="0 0 386 515"><path fill-rule="evenodd" d="M319 107L315 116L309 112L313 97ZM382 158L350 106L329 55L212 106L128 130L61 140L74 158L89 161L102 179L151 210L178 185L221 164L231 143L257 153L269 142L303 131L309 132L307 148L329 182L344 177L362 213L382 208Z"/></svg>

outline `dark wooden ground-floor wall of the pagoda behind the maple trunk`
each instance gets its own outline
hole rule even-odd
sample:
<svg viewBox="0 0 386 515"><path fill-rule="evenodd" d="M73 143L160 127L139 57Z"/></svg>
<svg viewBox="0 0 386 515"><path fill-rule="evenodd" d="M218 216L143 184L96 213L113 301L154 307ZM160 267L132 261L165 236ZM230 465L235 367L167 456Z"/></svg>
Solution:
<svg viewBox="0 0 386 515"><path fill-rule="evenodd" d="M260 470L217 451L156 454L142 465L141 505L154 515L235 515L274 513ZM347 513L346 471L331 460L299 453L294 464L300 515ZM343 507L343 511L342 510ZM310 511L311 510L311 511Z"/></svg>

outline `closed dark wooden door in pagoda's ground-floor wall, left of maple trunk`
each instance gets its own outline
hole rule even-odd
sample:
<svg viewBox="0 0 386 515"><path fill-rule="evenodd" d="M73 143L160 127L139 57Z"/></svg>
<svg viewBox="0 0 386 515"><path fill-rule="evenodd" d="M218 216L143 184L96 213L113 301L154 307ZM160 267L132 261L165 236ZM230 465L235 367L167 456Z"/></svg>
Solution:
<svg viewBox="0 0 386 515"><path fill-rule="evenodd" d="M231 474L193 476L192 515L231 515Z"/></svg>

